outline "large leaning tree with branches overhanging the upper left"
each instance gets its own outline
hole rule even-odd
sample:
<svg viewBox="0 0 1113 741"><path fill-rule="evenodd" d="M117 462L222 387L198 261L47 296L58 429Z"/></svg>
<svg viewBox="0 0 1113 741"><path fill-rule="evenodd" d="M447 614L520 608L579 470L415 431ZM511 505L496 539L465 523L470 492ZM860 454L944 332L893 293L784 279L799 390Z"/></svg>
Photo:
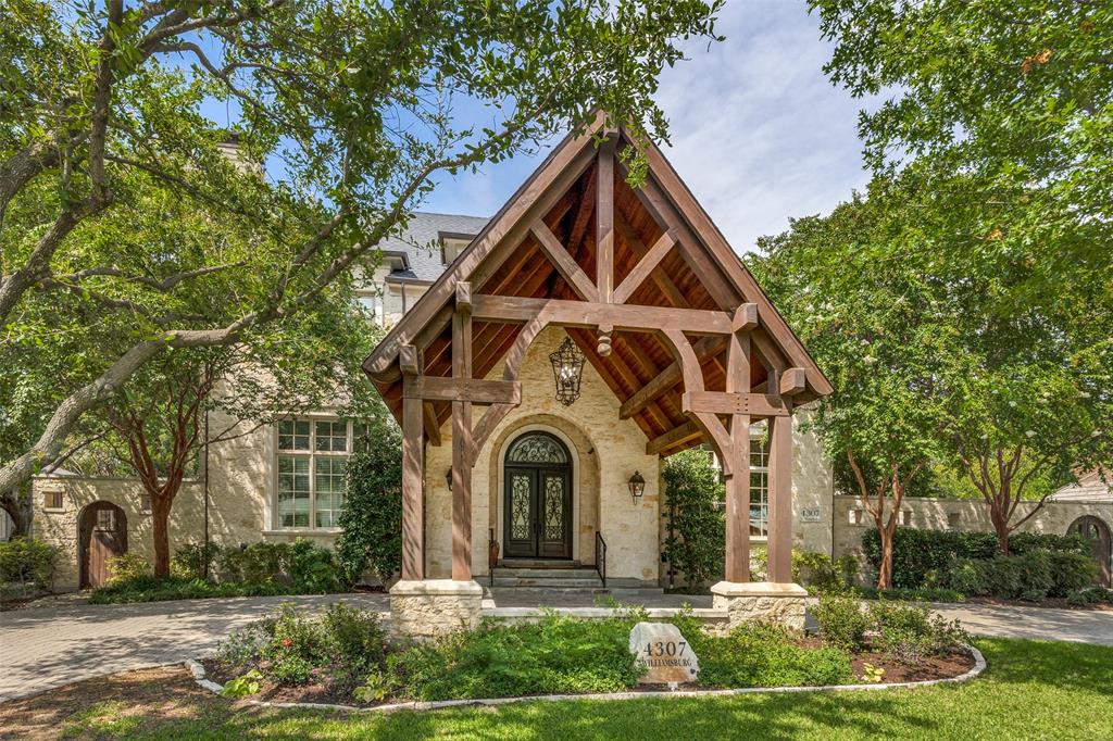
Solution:
<svg viewBox="0 0 1113 741"><path fill-rule="evenodd" d="M351 279L436 178L597 107L663 137L657 77L678 40L716 38L718 7L7 0L0 330L49 345L57 322L85 349L32 442L4 452L0 492L62 455L146 364L258 340ZM235 119L216 125L214 103ZM66 313L36 310L50 302Z"/></svg>

